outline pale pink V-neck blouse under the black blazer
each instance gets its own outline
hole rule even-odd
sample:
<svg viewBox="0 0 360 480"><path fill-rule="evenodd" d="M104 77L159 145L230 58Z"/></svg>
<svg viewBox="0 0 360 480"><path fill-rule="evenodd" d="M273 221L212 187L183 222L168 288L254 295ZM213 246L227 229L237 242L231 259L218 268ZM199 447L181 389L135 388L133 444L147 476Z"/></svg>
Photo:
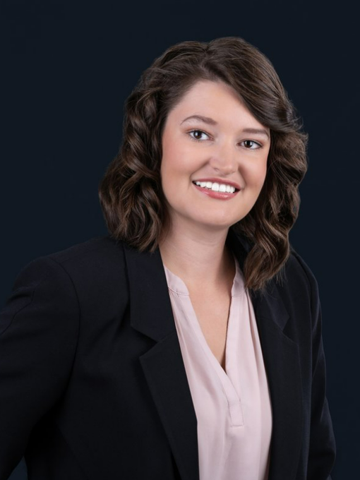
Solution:
<svg viewBox="0 0 360 480"><path fill-rule="evenodd" d="M165 265L191 397L198 420L200 480L267 480L272 411L256 318L236 263L225 370L193 310L186 284Z"/></svg>

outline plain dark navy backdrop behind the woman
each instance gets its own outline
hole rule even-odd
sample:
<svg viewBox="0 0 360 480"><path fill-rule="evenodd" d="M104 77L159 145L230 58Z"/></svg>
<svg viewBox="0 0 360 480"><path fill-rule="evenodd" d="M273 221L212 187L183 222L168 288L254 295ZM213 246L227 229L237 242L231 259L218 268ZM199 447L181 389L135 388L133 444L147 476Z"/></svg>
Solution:
<svg viewBox="0 0 360 480"><path fill-rule="evenodd" d="M313 3L1 1L0 307L30 260L107 234L97 185L140 73L176 42L244 37L272 61L310 135L290 238L320 287L332 479L342 480L360 452L359 24L349 0Z"/></svg>

